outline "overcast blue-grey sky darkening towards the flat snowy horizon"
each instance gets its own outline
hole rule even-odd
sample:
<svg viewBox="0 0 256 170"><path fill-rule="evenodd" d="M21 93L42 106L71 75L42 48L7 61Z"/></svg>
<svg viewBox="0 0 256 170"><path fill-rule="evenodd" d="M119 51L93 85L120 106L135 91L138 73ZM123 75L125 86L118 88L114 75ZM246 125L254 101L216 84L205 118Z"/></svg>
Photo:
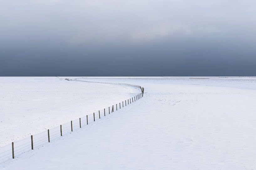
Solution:
<svg viewBox="0 0 256 170"><path fill-rule="evenodd" d="M0 0L0 76L256 76L255 0Z"/></svg>

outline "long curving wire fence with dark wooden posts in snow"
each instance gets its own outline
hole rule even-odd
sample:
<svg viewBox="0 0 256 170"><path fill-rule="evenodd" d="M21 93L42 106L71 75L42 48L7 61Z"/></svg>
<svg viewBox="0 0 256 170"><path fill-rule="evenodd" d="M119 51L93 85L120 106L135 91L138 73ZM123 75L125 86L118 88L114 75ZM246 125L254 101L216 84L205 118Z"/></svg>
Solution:
<svg viewBox="0 0 256 170"><path fill-rule="evenodd" d="M139 85L86 80L73 81L83 81L88 83L101 83L111 85L126 85L140 89L141 93L127 100L123 100L117 104L112 104L108 108L99 109L98 112L94 112L93 114L88 114L85 117L72 120L71 122L67 122L65 124L61 124L59 127L54 127L52 129L47 129L47 131L44 131L42 133L31 135L30 138L24 138L22 140L15 141L12 142L11 144L0 147L0 163L4 163L9 159L16 158L22 153L25 153L31 149L33 150L35 148L42 147L46 144L49 144L51 141L57 140L59 138L62 138L62 136L72 133L73 131L91 125L99 121L100 119L104 119L106 116L109 116L113 112L123 109L123 107L128 106L129 104L132 104L133 102L136 102L137 100L141 99L144 94L144 88Z"/></svg>

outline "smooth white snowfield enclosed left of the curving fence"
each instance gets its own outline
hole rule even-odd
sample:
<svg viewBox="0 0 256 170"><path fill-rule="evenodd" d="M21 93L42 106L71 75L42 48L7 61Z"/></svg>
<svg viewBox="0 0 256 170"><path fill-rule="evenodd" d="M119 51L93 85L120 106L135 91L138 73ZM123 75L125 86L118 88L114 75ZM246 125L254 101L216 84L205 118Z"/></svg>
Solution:
<svg viewBox="0 0 256 170"><path fill-rule="evenodd" d="M57 77L0 77L0 147L92 114L137 93L139 90L126 86Z"/></svg>

